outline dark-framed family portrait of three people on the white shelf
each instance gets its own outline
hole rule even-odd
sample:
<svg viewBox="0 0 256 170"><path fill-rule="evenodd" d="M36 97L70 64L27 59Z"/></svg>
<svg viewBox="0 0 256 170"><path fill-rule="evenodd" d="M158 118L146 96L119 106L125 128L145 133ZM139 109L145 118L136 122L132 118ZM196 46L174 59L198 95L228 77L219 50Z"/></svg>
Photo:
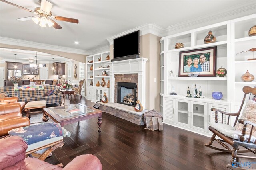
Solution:
<svg viewBox="0 0 256 170"><path fill-rule="evenodd" d="M188 77L189 73L198 77L216 76L217 47L208 47L180 52L179 77Z"/></svg>

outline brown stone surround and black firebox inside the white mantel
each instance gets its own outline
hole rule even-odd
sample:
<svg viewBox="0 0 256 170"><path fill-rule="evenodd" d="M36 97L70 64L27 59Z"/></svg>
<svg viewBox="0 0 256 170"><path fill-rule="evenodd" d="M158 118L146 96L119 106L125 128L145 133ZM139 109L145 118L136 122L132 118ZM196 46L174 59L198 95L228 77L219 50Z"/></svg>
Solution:
<svg viewBox="0 0 256 170"><path fill-rule="evenodd" d="M114 102L135 106L138 98L138 74L114 74Z"/></svg>

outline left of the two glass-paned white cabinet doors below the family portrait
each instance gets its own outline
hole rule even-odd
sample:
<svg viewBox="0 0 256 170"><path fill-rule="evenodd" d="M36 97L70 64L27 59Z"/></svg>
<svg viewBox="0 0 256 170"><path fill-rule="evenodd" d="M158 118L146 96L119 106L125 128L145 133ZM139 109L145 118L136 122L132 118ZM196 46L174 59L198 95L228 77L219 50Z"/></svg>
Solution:
<svg viewBox="0 0 256 170"><path fill-rule="evenodd" d="M178 106L177 108L177 112L178 112L178 116L177 116L177 122L180 125L184 125L184 126L190 126L190 102L186 101L186 100L178 100L177 102Z"/></svg>

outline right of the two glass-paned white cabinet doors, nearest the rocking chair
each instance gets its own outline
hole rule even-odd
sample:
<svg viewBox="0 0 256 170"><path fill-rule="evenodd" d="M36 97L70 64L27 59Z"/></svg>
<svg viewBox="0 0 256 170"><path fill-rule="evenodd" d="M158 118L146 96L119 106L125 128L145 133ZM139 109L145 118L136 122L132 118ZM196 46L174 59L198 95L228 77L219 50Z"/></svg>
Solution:
<svg viewBox="0 0 256 170"><path fill-rule="evenodd" d="M203 102L190 102L190 127L200 131L208 131L207 103Z"/></svg>

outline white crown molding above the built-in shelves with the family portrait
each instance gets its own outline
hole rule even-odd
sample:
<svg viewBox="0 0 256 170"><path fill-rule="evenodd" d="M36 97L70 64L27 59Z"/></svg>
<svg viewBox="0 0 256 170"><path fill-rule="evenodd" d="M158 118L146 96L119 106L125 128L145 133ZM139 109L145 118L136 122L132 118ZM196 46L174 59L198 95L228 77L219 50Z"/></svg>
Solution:
<svg viewBox="0 0 256 170"><path fill-rule="evenodd" d="M256 1L252 0L250 2L244 3L243 5L228 8L225 11L220 11L217 13L212 13L208 15L203 15L201 18L197 18L190 21L180 22L178 24L171 25L162 30L162 36L172 35L175 33L180 33L195 29L198 27L203 27L206 25L212 25L214 23L220 23L222 21L233 20L243 16L248 16L255 14Z"/></svg>

